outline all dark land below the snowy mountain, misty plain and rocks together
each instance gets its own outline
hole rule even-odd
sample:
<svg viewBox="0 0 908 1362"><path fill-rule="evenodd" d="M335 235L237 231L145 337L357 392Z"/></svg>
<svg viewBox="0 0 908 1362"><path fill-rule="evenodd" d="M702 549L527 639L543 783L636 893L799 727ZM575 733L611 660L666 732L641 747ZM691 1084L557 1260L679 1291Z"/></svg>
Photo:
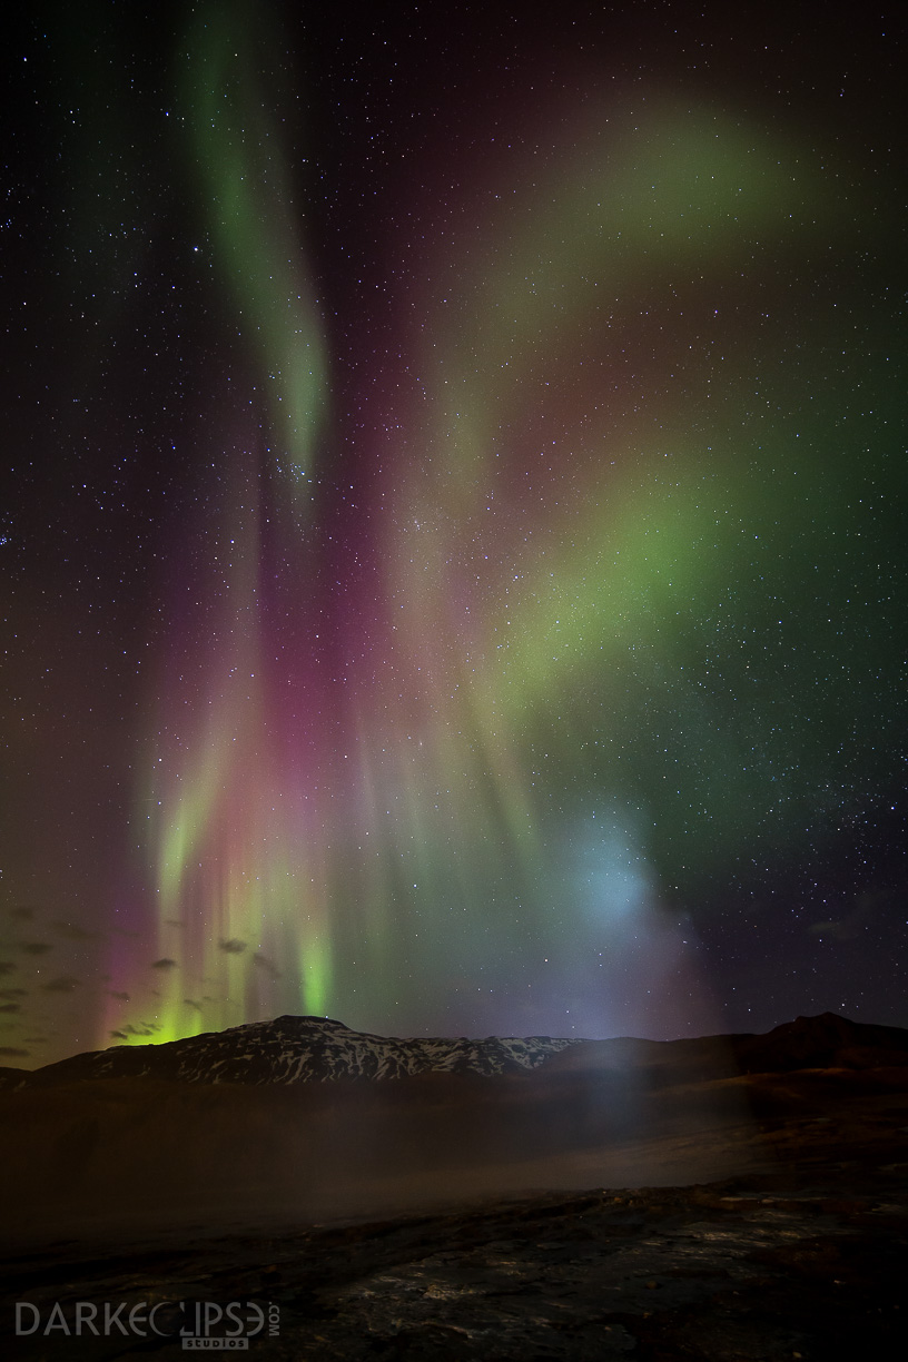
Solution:
<svg viewBox="0 0 908 1362"><path fill-rule="evenodd" d="M294 1362L900 1357L908 1069L854 1026L724 1076L572 1046L491 1079L7 1092L4 1355L176 1359L185 1329Z"/></svg>

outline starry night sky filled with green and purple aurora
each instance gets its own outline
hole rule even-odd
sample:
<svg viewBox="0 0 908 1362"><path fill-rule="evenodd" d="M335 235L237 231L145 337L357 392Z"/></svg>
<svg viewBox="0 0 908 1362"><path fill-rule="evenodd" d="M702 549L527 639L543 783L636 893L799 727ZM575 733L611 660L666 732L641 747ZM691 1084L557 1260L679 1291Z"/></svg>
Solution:
<svg viewBox="0 0 908 1362"><path fill-rule="evenodd" d="M22 7L0 1062L908 1026L894 7Z"/></svg>

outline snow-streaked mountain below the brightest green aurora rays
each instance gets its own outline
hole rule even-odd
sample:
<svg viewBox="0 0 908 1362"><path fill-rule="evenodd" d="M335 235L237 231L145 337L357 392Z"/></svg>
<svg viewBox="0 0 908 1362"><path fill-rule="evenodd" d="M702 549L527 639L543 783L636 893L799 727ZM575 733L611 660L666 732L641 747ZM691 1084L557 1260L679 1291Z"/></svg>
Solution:
<svg viewBox="0 0 908 1362"><path fill-rule="evenodd" d="M324 1083L402 1079L426 1071L519 1073L573 1041L549 1036L398 1039L351 1031L328 1017L282 1016L165 1045L114 1045L37 1069L27 1084L76 1079L170 1079L181 1083Z"/></svg>

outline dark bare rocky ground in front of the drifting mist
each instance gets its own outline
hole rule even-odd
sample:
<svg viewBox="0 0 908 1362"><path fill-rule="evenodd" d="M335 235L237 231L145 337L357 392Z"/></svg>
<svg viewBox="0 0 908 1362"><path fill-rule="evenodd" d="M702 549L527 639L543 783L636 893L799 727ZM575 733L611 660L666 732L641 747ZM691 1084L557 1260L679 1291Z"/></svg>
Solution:
<svg viewBox="0 0 908 1362"><path fill-rule="evenodd" d="M745 1171L721 1181L486 1196L321 1223L275 1218L215 1238L161 1222L144 1239L105 1239L99 1224L41 1242L7 1223L5 1352L182 1357L178 1329L204 1333L197 1302L211 1337L248 1333L257 1306L264 1323L248 1350L263 1362L904 1355L904 1071L738 1083L747 1121L711 1139L717 1156L738 1148ZM658 1139L666 1167L677 1167L677 1135ZM33 1308L20 1313L39 1321L34 1332L15 1335L15 1302ZM93 1303L97 1318L105 1302L123 1306L121 1318L137 1306L137 1328L157 1303L161 1335L146 1323L146 1336L116 1327L75 1336L78 1302L83 1320ZM230 1302L233 1316L218 1323Z"/></svg>

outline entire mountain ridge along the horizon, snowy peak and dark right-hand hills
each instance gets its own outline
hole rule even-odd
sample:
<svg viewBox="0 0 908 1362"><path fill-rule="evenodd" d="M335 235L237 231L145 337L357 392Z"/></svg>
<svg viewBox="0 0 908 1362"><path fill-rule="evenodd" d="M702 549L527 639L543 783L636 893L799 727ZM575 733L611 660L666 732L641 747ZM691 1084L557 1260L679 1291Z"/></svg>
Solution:
<svg viewBox="0 0 908 1362"><path fill-rule="evenodd" d="M799 1016L765 1034L645 1041L617 1036L383 1036L331 1017L285 1013L163 1043L110 1046L39 1069L0 1069L0 1086L31 1088L95 1079L162 1079L195 1084L393 1080L419 1073L493 1077L546 1068L645 1068L677 1079L809 1068L908 1066L908 1030L852 1022L834 1012Z"/></svg>

